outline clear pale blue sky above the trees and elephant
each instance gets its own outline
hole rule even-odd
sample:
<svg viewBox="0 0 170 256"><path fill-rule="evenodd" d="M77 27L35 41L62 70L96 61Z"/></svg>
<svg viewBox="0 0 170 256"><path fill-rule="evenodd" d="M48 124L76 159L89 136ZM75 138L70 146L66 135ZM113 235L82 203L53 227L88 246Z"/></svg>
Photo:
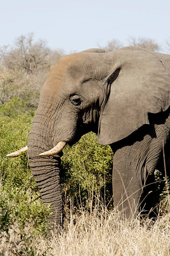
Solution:
<svg viewBox="0 0 170 256"><path fill-rule="evenodd" d="M170 41L170 0L0 0L0 46L29 32L66 53L129 36Z"/></svg>

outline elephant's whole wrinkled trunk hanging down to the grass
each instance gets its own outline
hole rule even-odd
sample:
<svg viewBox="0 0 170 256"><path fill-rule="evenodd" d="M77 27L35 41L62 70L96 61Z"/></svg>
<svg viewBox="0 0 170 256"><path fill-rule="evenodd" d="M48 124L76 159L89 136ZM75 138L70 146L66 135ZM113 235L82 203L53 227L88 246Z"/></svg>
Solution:
<svg viewBox="0 0 170 256"><path fill-rule="evenodd" d="M47 136L48 127L40 123L35 115L28 138L28 159L32 174L40 189L42 201L50 204L50 225L62 225L62 196L60 184L60 156L40 156L44 151L52 148L52 142ZM60 153L61 154L61 153Z"/></svg>

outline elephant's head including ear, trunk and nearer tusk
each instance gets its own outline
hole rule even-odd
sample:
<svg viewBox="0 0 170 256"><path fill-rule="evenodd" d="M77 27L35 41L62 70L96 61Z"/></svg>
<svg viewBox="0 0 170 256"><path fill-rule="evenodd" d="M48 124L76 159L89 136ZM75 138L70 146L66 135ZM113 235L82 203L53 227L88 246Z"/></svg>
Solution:
<svg viewBox="0 0 170 256"><path fill-rule="evenodd" d="M150 52L90 49L64 56L51 68L28 138L28 157L51 222L62 223L60 156L68 143L93 131L112 144L169 107L170 77ZM114 144L113 144L114 145Z"/></svg>

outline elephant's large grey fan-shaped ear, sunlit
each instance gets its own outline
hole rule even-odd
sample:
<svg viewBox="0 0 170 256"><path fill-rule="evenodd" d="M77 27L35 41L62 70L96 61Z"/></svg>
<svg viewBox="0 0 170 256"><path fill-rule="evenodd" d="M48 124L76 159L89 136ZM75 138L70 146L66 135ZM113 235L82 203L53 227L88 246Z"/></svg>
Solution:
<svg viewBox="0 0 170 256"><path fill-rule="evenodd" d="M119 74L111 79L115 73L112 70L106 80L110 94L100 113L97 136L100 144L120 141L143 124L149 124L148 113L165 111L170 106L170 74L159 58L145 51L109 54L112 54L110 65Z"/></svg>

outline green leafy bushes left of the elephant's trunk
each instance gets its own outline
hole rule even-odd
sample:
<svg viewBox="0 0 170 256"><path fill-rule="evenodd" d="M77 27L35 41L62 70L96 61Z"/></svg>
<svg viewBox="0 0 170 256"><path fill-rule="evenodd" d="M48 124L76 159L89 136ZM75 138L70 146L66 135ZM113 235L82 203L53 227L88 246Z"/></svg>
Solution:
<svg viewBox="0 0 170 256"><path fill-rule="evenodd" d="M5 239L9 249L23 240L21 247L27 250L30 239L49 229L50 207L42 204L27 154L6 157L27 144L31 123L32 111L25 113L20 98L0 107L0 243Z"/></svg>

